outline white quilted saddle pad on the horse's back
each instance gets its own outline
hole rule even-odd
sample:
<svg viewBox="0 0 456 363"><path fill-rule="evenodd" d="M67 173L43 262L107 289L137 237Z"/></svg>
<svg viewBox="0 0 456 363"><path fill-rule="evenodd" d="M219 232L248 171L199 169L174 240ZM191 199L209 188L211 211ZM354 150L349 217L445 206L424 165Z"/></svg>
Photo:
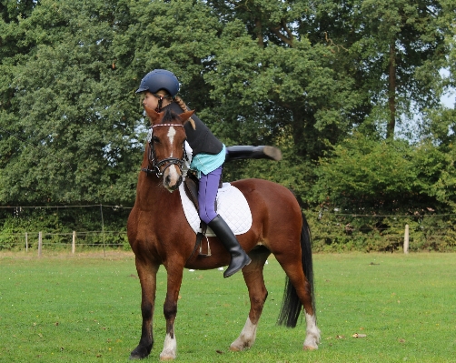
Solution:
<svg viewBox="0 0 456 363"><path fill-rule="evenodd" d="M193 202L185 194L183 183L179 187L181 194L183 213L187 218L188 224L194 233L201 232L201 219L198 215ZM234 235L242 235L252 227L252 212L243 193L230 183L223 183L223 187L217 193L217 213L223 217ZM207 227L206 236L215 236L213 230Z"/></svg>

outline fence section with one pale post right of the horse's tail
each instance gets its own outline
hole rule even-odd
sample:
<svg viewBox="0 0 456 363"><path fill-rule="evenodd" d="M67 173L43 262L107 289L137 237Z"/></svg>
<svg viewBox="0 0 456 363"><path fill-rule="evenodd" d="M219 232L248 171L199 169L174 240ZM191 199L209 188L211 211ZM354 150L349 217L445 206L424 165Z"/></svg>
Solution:
<svg viewBox="0 0 456 363"><path fill-rule="evenodd" d="M456 215L306 214L315 251L456 251ZM407 244L408 240L408 244Z"/></svg>

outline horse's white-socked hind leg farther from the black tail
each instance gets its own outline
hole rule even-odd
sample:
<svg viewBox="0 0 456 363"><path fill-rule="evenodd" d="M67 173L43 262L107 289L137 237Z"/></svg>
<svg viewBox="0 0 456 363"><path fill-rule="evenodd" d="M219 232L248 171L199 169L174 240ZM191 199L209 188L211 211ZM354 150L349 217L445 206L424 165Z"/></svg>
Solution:
<svg viewBox="0 0 456 363"><path fill-rule="evenodd" d="M250 312L243 331L241 331L239 337L230 346L230 349L233 351L250 348L255 342L256 328L263 312L264 301L266 301L266 297L268 296L268 292L264 286L263 267L270 254L271 252L263 247L254 249L249 253L252 262L250 265L243 267L243 278L249 290Z"/></svg>

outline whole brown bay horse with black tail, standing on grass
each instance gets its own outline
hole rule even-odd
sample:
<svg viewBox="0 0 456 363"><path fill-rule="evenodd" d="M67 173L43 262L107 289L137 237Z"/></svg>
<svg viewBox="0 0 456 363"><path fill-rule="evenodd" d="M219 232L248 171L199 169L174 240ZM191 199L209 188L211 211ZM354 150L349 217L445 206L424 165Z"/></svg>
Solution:
<svg viewBox="0 0 456 363"><path fill-rule="evenodd" d="M160 265L164 265L167 272L164 301L166 336L160 358L168 360L176 357L174 319L183 268L227 266L230 255L217 237L208 237L212 256L202 257L194 253L195 233L184 216L180 194L173 193L183 180L183 125L193 111L179 116L170 111L157 113L147 107L145 111L152 126L144 151L144 172L138 178L136 200L127 224L128 239L134 251L141 283L143 318L141 338L130 358L145 358L154 346L152 320L156 274ZM241 334L230 349L240 351L253 346L268 295L264 286L263 266L271 253L286 273L278 323L294 328L303 307L307 326L303 348L317 349L320 330L315 317L310 230L301 207L289 189L270 181L245 179L235 181L232 185L245 196L252 210L253 223L250 230L237 236L243 249L252 258L250 265L242 270L251 308Z"/></svg>

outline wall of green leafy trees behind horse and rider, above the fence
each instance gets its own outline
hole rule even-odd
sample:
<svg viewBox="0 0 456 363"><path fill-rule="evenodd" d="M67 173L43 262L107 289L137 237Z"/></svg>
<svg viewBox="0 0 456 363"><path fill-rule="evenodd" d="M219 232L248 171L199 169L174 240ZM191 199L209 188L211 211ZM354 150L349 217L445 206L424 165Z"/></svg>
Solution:
<svg viewBox="0 0 456 363"><path fill-rule="evenodd" d="M226 145L283 148L226 179L272 179L307 207L453 209L455 114L440 96L456 84L455 8L0 1L0 203L133 204L147 126L134 91L166 68ZM407 119L420 134L403 139Z"/></svg>

